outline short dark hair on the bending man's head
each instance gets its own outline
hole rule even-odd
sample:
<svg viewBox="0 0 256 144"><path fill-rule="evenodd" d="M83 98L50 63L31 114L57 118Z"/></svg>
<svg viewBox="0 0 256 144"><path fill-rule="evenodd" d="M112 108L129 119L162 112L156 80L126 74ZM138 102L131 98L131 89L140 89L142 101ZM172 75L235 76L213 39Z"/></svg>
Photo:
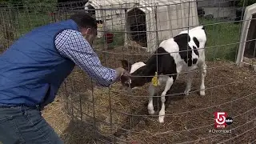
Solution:
<svg viewBox="0 0 256 144"><path fill-rule="evenodd" d="M74 22L77 23L79 28L94 28L97 30L96 19L86 13L86 11L78 11L70 16Z"/></svg>

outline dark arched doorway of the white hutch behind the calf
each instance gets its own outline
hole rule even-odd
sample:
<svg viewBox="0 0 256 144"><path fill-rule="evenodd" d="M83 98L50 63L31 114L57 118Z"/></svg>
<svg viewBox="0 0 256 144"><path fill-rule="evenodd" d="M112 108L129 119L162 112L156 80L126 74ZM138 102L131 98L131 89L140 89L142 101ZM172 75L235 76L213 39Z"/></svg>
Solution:
<svg viewBox="0 0 256 144"><path fill-rule="evenodd" d="M140 46L146 47L146 14L139 8L127 12L129 38Z"/></svg>

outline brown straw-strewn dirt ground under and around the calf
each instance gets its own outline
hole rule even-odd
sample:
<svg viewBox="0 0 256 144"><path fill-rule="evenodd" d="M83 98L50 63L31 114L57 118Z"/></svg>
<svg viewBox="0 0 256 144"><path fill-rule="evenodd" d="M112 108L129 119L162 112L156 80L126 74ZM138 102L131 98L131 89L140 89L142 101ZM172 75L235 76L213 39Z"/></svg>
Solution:
<svg viewBox="0 0 256 144"><path fill-rule="evenodd" d="M119 53L122 50L108 51ZM132 62L146 59L139 55L98 54L102 64L112 68L120 66L119 60L122 58ZM95 85L92 89L90 78L78 68L70 75L67 84L62 86L56 100L43 111L43 117L65 143L72 144L111 141L152 144L254 143L255 73L247 67L235 66L233 62L206 64L206 96L198 94L201 82L198 72L194 75L191 94L181 94L186 86L186 75L181 74L166 96L166 117L162 124L157 121L160 98L155 97L155 115L147 113L148 85L132 92L121 90L119 83L110 89ZM233 118L234 122L223 129L231 130L231 133L210 132L214 130L215 111L225 111ZM97 138L106 142L98 142Z"/></svg>

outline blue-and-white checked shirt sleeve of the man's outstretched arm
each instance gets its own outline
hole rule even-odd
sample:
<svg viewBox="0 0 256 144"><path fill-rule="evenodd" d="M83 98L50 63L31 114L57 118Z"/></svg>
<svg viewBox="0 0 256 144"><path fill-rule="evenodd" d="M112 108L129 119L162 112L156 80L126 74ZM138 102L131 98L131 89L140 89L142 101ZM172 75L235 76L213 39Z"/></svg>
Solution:
<svg viewBox="0 0 256 144"><path fill-rule="evenodd" d="M80 32L63 30L56 36L55 46L63 57L70 58L100 86L110 86L114 82L115 70L102 66L98 55Z"/></svg>

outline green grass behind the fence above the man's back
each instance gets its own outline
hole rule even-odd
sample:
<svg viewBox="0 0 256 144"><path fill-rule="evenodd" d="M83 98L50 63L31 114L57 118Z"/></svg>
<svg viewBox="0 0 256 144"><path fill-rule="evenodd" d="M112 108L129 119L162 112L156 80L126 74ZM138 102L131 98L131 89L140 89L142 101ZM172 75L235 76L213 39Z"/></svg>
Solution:
<svg viewBox="0 0 256 144"><path fill-rule="evenodd" d="M6 1L2 13L2 22L10 23L10 28L14 33L14 39L26 34L35 27L46 25L51 22L50 12L56 9L57 0L24 0Z"/></svg>

